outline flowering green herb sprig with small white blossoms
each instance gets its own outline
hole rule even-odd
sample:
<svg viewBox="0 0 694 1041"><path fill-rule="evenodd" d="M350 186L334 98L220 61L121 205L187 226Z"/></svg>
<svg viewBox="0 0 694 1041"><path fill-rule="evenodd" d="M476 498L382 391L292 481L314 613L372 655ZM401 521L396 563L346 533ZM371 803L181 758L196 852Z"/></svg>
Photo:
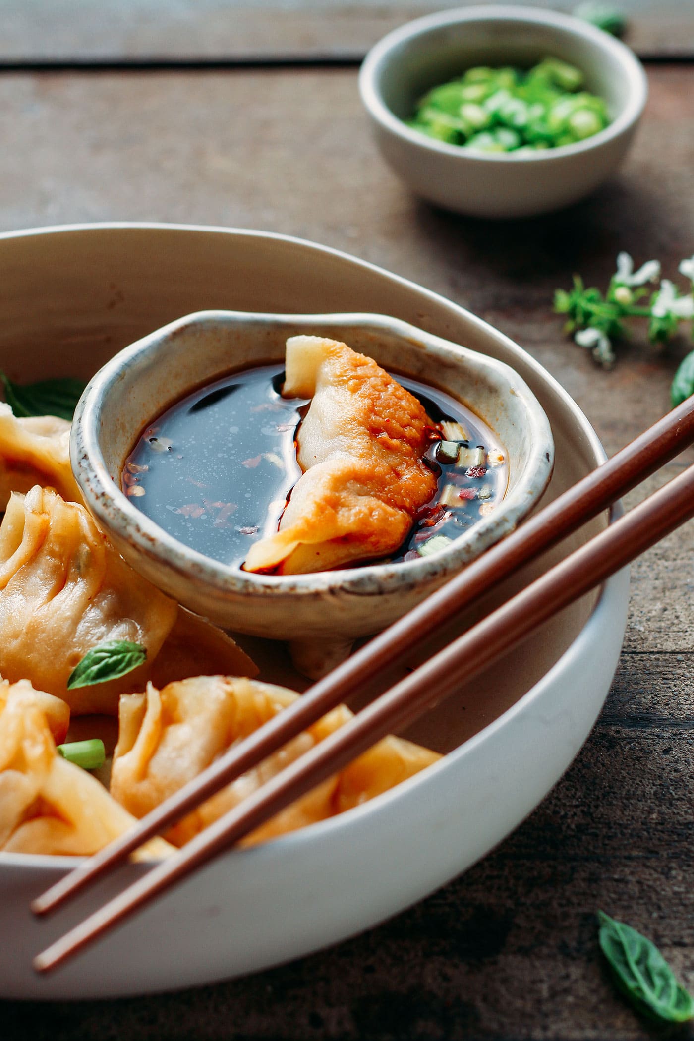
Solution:
<svg viewBox="0 0 694 1041"><path fill-rule="evenodd" d="M579 275L573 276L573 287L567 293L557 289L555 311L568 315L565 331L573 334L580 347L588 348L595 361L603 369L615 363L613 340L625 339L629 319L648 320L648 339L663 345L672 339L682 322L694 320L694 256L683 260L679 273L689 279L689 291L664 278L661 264L647 260L637 271L628 253L617 257L617 271L610 279L605 295L599 289L584 285ZM660 284L651 289L649 284ZM694 323L691 332L694 334ZM694 393L694 351L682 362L672 383L672 404Z"/></svg>

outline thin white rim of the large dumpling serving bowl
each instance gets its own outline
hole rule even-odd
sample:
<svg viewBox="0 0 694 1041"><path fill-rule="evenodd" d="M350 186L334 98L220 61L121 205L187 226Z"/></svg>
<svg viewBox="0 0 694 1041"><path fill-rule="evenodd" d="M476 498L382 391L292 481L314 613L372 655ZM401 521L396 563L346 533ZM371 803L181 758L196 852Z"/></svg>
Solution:
<svg viewBox="0 0 694 1041"><path fill-rule="evenodd" d="M213 233L213 234L233 234L233 235L247 235L253 238L264 238L269 240L280 240L287 245L299 246L304 249L309 248L311 251L323 252L325 255L339 259L346 260L350 263L357 264L357 266L362 268L366 271L370 271L376 275L385 275L388 279L392 279L394 282L407 288L416 289L417 293L422 294L428 297L433 302L440 304L443 302L446 307L449 307L456 313L462 313L465 315L466 320L473 320L474 324L486 325L481 319L477 319L475 315L471 314L469 311L465 310L459 304L455 304L453 301L447 300L445 297L440 296L438 293L434 293L432 289L427 289L416 282L410 281L410 279L403 278L402 275L395 275L392 272L387 271L385 268L379 268L377 264L370 263L368 260L360 260L358 257L351 256L349 253L343 253L341 250L333 249L330 246L320 246L316 243L311 243L306 238L298 238L293 235L285 235L280 233L267 232L267 231L254 231L247 228L228 228L221 225L204 225L204 224L164 224L162 222L156 221L104 221L95 224L62 224L62 225L46 225L40 228L25 228L17 231L6 231L0 232L0 243L9 238L26 238L29 236L46 235L46 234L74 234L75 232L103 232L103 231L195 231L198 233ZM594 452L595 457L600 461L607 460L607 454L602 445L593 430L593 427L588 422L587 416L579 408L571 396L564 389L564 387L559 383L555 377L547 372L533 358L532 355L528 354L521 347L515 344L510 337L506 336L504 333L495 330L496 334L500 336L504 340L513 347L514 351L519 351L523 355L523 360L526 362L529 367L533 369L539 377L547 384L548 387L562 400L565 408L574 416L575 421L582 428L584 436L591 450ZM613 515L618 515L619 509L613 510ZM613 517L611 517L612 523ZM576 658L582 657L586 654L593 643L594 639L599 640L600 634L603 630L603 618L609 618L613 611L614 598L617 595L619 576L621 573L612 576L600 586L600 591L598 600L591 611L588 620L580 630L575 639L569 644L566 651L557 659L555 664L535 683L530 690L528 690L521 697L518 699L510 708L505 712L502 712L495 719L484 727L482 730L478 731L471 738L464 741L453 752L449 752L443 757L439 762L434 763L431 767L423 770L421 773L415 775L409 778L407 781L402 782L402 784L396 785L395 788L391 788L388 791L382 792L376 798L370 799L361 806L354 807L344 814L338 814L335 817L329 817L327 820L320 820L314 824L309 824L307 828L301 829L297 832L290 832L287 835L278 836L278 838L273 839L272 842L266 842L258 846L252 846L246 849L232 849L223 856L255 856L255 857L273 857L278 850L281 855L282 849L286 848L287 844L298 844L303 843L305 845L311 842L320 840L324 835L333 828L349 827L350 822L353 820L360 819L364 814L378 813L382 808L385 809L386 805L396 802L407 795L410 787L417 784L426 784L428 778L438 775L442 770L454 768L455 764L463 757L469 755L483 742L491 739L496 731L505 726L510 718L515 716L518 712L525 708L529 702L534 701L536 697L540 696L542 691L546 688L548 683L555 682L557 674L563 669L570 667L571 663L576 660ZM607 621L606 621L607 625ZM593 636L593 631L596 631L596 635ZM85 857L65 857L65 856L49 856L47 854L24 854L24 853L2 853L0 852L0 868L25 868L32 871L42 871L48 873L54 873L57 871L67 871L72 867L84 863L87 858ZM130 864L128 865L129 870L142 871L147 870L148 866L154 862L148 862L146 864Z"/></svg>

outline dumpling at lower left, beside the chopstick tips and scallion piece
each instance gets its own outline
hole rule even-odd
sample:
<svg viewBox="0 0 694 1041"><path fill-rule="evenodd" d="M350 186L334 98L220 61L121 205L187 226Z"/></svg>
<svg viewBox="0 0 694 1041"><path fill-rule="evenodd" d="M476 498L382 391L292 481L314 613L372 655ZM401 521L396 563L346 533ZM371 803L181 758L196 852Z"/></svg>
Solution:
<svg viewBox="0 0 694 1041"><path fill-rule="evenodd" d="M96 778L58 755L43 710L47 697L26 683L2 692L0 850L88 856L131 828L134 818ZM171 852L157 838L135 856Z"/></svg>

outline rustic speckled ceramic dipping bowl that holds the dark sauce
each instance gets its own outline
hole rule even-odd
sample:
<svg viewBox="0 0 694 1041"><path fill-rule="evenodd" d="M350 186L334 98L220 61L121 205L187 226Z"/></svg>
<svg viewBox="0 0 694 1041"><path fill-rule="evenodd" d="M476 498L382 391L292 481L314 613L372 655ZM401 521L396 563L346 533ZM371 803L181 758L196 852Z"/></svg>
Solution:
<svg viewBox="0 0 694 1041"><path fill-rule="evenodd" d="M288 336L344 340L393 373L438 386L474 411L504 446L505 497L439 553L310 575L256 575L220 563L169 535L121 491L142 431L187 392L233 371L284 360ZM72 464L86 506L132 566L217 625L292 641L307 675L325 671L357 636L394 621L512 531L551 474L547 417L508 365L379 314L252 314L200 311L117 354L88 384L75 413ZM309 660L320 646L319 663ZM334 648L334 659L326 656ZM302 648L305 653L302 654ZM308 657L307 657L308 656Z"/></svg>

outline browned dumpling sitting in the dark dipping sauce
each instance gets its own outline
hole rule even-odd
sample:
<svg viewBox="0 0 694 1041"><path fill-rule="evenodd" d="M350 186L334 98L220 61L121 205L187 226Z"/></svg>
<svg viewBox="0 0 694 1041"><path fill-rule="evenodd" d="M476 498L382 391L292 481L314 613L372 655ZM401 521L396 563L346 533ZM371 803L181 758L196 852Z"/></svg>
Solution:
<svg viewBox="0 0 694 1041"><path fill-rule="evenodd" d="M436 492L420 402L372 358L319 336L287 340L282 393L311 399L297 442L304 473L246 569L292 575L392 553Z"/></svg>

